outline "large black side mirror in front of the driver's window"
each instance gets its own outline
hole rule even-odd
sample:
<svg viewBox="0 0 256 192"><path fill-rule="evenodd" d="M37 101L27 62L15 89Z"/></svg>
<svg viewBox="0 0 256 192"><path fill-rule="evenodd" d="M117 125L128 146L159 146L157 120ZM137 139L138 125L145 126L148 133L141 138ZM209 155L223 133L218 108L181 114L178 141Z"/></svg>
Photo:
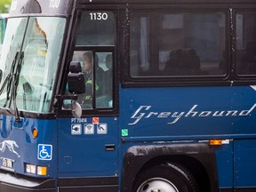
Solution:
<svg viewBox="0 0 256 192"><path fill-rule="evenodd" d="M84 74L80 62L72 61L68 73L68 92L82 94L85 92Z"/></svg>

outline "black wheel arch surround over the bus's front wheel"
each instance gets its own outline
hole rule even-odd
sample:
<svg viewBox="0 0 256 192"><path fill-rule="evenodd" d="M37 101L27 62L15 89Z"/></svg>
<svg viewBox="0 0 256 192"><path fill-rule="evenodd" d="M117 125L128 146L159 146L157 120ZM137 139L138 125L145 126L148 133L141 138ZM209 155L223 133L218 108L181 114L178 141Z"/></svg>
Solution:
<svg viewBox="0 0 256 192"><path fill-rule="evenodd" d="M159 156L161 156L161 159L164 159L164 161L177 162L178 160L177 164L188 163L188 158L196 159L196 161L204 166L205 172L207 172L211 188L207 192L218 191L215 153L212 148L209 148L209 146L205 144L148 145L128 148L124 156L121 191L131 192L133 180L138 172L152 159L154 159L153 162L155 165L158 164L156 157ZM178 156L182 157L177 159Z"/></svg>

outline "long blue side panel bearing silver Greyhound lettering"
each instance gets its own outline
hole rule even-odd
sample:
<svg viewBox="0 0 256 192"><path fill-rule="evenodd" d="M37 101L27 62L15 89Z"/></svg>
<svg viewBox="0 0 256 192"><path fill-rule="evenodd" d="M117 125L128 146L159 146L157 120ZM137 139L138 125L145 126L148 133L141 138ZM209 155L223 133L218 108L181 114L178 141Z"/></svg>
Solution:
<svg viewBox="0 0 256 192"><path fill-rule="evenodd" d="M197 140L255 133L256 92L250 86L123 91L121 124L129 129L128 138Z"/></svg>

